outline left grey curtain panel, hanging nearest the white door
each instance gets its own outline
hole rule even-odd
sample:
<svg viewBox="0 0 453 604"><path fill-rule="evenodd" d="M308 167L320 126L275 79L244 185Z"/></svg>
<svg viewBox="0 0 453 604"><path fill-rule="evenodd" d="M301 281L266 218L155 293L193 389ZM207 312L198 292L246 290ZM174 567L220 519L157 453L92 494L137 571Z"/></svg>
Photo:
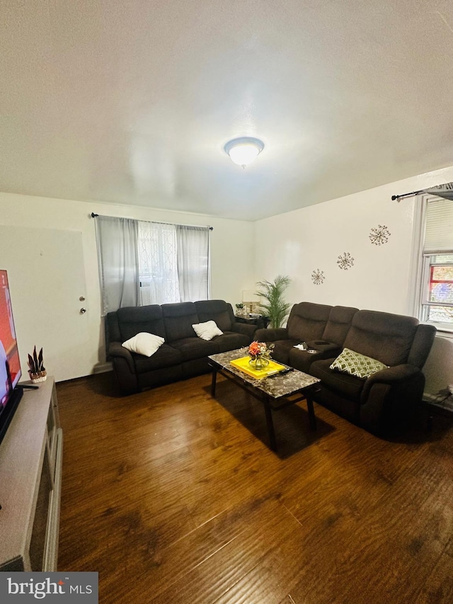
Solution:
<svg viewBox="0 0 453 604"><path fill-rule="evenodd" d="M136 220L96 218L103 316L121 307L139 305L137 232Z"/></svg>

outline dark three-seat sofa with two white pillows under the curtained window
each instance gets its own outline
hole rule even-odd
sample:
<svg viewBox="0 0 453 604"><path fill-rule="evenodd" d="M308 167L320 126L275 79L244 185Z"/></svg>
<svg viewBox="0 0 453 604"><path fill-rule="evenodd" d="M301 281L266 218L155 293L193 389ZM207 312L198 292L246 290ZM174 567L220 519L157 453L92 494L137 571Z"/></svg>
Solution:
<svg viewBox="0 0 453 604"><path fill-rule="evenodd" d="M207 373L208 355L248 346L256 331L254 325L236 322L231 304L224 300L125 307L105 319L107 358L122 394ZM198 338L192 325L206 321L215 321L223 335L210 341ZM151 357L122 346L142 331L165 339Z"/></svg>

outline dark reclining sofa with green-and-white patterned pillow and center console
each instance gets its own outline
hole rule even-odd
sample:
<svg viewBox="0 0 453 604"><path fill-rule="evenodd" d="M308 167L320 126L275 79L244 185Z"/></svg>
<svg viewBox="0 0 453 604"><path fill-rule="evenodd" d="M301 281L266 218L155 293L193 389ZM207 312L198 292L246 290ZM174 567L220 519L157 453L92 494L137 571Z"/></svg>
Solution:
<svg viewBox="0 0 453 604"><path fill-rule="evenodd" d="M294 304L286 328L259 329L254 338L275 343L275 360L320 378L316 402L386 436L401 428L422 400L422 369L435 331L414 317L301 302ZM294 348L302 341L316 353ZM343 348L388 367L368 378L331 370Z"/></svg>

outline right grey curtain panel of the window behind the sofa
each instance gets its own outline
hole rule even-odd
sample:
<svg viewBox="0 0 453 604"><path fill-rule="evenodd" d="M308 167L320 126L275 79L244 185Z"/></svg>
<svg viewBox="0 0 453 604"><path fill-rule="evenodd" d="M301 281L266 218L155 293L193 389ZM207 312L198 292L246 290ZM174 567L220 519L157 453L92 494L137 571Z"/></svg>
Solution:
<svg viewBox="0 0 453 604"><path fill-rule="evenodd" d="M176 225L178 239L178 279L181 302L209 298L209 227Z"/></svg>

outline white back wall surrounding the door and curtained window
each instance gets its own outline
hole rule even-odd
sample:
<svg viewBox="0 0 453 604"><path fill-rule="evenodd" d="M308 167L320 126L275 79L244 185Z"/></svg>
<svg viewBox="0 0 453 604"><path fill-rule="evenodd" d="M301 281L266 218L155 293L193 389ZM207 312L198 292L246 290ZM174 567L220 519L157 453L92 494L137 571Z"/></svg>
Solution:
<svg viewBox="0 0 453 604"><path fill-rule="evenodd" d="M88 309L88 341L86 349L74 351L74 374L79 377L93 372L98 363L104 360L103 321L101 320L101 296L98 280L98 260L96 252L95 224L91 212L97 214L130 217L138 220L156 220L178 224L210 225L214 227L211 234L212 280L211 297L231 302L241 300L241 292L253 283L253 224L240 220L226 220L205 215L185 212L166 212L144 207L126 207L105 203L86 203L71 200L31 197L0 193L0 225L11 227L34 227L36 229L55 229L57 232L77 231L81 233L84 252L84 272L86 279L86 303ZM17 241L21 246L21 241ZM61 251L64 261L64 249ZM2 262L0 241L0 268L8 269ZM23 279L27 279L29 269L23 263ZM55 287L58 287L56 284ZM55 292L31 292L29 312L42 317L42 321L52 321L55 309L52 304L57 300ZM11 292L14 300L14 291ZM26 304L16 304L22 311ZM21 334L25 317L13 308L16 331ZM23 311L24 312L24 311ZM29 319L29 317L27 317ZM64 338L64 329L55 336ZM33 339L33 338L32 338ZM21 349L18 342L21 360L25 366L27 350ZM47 348L52 342L47 343ZM25 357L25 358L24 358ZM48 368L53 375L58 375L58 367ZM67 377L67 376L65 376Z"/></svg>

